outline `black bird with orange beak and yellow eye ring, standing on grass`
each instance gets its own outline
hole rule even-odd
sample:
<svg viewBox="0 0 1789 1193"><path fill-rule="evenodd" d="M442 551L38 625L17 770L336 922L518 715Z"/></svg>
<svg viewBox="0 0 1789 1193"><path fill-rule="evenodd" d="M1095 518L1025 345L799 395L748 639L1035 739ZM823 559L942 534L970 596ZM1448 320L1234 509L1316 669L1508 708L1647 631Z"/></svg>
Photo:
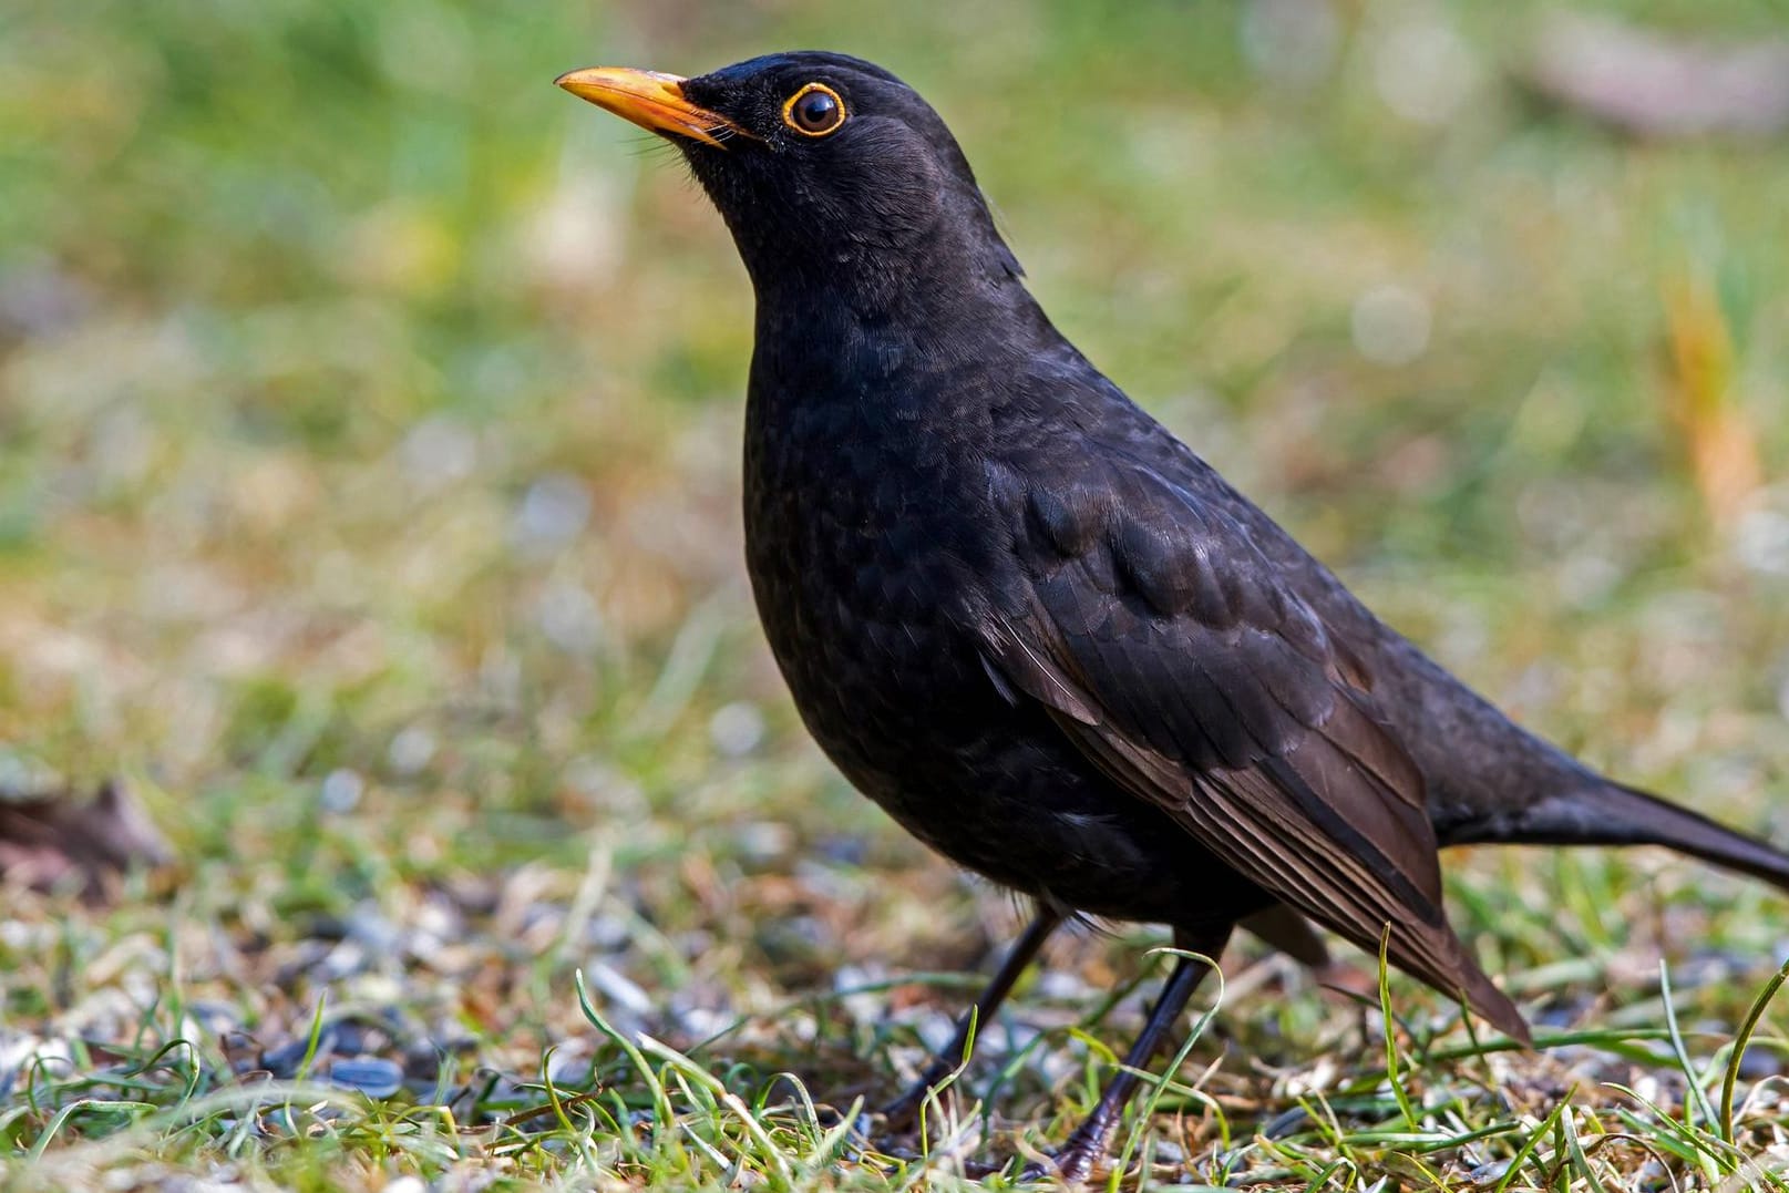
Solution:
<svg viewBox="0 0 1789 1193"><path fill-rule="evenodd" d="M558 86L676 143L732 229L757 293L759 615L839 769L1036 901L982 1018L1066 916L1163 923L1206 957L1242 923L1317 959L1315 921L1528 1041L1447 925L1438 846L1664 844L1789 887L1789 855L1508 721L1131 402L889 72L803 52ZM1129 1070L1204 973L1177 964ZM1134 1086L1109 1082L1064 1177Z"/></svg>

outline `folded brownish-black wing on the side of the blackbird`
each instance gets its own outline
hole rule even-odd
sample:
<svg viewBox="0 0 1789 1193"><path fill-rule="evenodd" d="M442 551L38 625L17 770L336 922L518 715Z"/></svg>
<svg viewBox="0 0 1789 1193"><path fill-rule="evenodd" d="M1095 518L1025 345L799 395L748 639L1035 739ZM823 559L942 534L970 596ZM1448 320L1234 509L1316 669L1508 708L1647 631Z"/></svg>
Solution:
<svg viewBox="0 0 1789 1193"><path fill-rule="evenodd" d="M1365 950L1390 930L1394 964L1526 1039L1447 925L1422 773L1358 658L1220 512L1084 467L1014 512L1023 599L984 617L989 671L1251 882Z"/></svg>

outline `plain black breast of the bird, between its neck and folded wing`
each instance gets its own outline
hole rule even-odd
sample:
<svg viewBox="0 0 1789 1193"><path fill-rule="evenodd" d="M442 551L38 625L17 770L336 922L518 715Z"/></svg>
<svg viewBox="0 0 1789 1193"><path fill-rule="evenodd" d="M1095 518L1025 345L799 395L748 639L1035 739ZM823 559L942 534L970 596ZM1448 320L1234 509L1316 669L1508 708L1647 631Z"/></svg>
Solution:
<svg viewBox="0 0 1789 1193"><path fill-rule="evenodd" d="M753 393L746 427L759 615L819 744L861 787L887 785L916 735L998 699L952 617L977 574L970 478L921 431L776 397Z"/></svg>

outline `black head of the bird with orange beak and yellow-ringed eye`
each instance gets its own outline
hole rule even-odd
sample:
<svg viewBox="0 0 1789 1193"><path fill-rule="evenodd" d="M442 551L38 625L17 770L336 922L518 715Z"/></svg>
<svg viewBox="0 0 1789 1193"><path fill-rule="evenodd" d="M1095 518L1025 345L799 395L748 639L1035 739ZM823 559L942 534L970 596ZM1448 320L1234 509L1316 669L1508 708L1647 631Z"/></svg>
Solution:
<svg viewBox="0 0 1789 1193"><path fill-rule="evenodd" d="M1020 275L962 150L920 95L843 54L775 54L682 79L590 68L560 88L673 141L760 297L900 290L939 270Z"/></svg>

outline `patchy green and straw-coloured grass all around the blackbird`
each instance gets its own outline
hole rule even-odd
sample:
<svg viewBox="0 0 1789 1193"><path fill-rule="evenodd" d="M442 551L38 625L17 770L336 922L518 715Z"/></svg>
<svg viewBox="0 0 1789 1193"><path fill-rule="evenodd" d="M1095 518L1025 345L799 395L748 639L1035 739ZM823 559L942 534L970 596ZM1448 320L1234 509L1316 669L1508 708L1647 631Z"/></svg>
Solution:
<svg viewBox="0 0 1789 1193"><path fill-rule="evenodd" d="M9 5L0 773L120 773L181 860L7 891L4 1184L954 1188L1140 1025L1159 935L1064 937L928 1145L866 1134L1018 916L801 735L739 563L750 293L580 64L896 68L1059 324L1394 624L1789 839L1789 156L1547 109L1535 4L1297 7ZM1780 1184L1778 898L1447 866L1540 1052L1243 944L1138 1182Z"/></svg>

